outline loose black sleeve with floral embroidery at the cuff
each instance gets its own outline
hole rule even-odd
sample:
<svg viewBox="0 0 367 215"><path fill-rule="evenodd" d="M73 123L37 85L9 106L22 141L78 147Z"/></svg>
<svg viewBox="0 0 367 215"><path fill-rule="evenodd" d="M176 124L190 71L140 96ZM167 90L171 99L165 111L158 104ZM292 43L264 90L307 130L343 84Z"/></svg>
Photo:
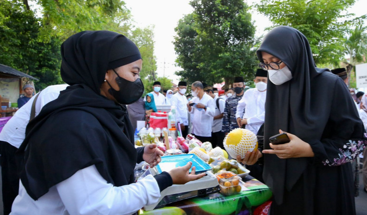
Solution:
<svg viewBox="0 0 367 215"><path fill-rule="evenodd" d="M357 108L344 82L338 79L334 86L329 121L321 140L309 142L316 165L339 166L362 153L366 131Z"/></svg>

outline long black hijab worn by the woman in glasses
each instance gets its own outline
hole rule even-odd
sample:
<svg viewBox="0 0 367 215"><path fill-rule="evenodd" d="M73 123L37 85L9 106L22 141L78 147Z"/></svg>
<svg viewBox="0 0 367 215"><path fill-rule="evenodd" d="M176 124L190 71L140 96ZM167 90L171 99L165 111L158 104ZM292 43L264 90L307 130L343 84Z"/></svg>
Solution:
<svg viewBox="0 0 367 215"><path fill-rule="evenodd" d="M293 76L278 86L268 81L264 149L271 149L269 137L278 134L279 129L305 142L320 140L332 102L329 92L333 87L330 86L338 77L320 78L329 70L316 67L306 37L292 27L275 27L265 36L257 50L257 57L263 62L261 51L283 61ZM273 189L278 204L282 202L284 188L290 191L310 162L311 159L305 157L279 159L276 155L264 154L264 180Z"/></svg>

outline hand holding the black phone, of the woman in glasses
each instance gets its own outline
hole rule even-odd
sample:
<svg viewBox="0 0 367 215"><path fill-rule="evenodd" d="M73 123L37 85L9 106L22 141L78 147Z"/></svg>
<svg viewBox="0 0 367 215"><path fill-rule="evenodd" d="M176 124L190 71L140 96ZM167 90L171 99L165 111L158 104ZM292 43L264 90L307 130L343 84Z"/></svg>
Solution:
<svg viewBox="0 0 367 215"><path fill-rule="evenodd" d="M283 131L279 129L279 133ZM281 159L291 157L313 157L314 152L311 149L310 144L299 139L296 135L287 133L289 143L273 145L270 143L270 148L273 150L263 150L264 154L276 154Z"/></svg>

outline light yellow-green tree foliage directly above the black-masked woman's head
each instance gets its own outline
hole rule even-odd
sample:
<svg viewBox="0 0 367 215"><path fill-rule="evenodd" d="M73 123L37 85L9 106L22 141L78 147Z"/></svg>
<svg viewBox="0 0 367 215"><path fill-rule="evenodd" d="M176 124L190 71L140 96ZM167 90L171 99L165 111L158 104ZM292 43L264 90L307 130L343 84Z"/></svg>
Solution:
<svg viewBox="0 0 367 215"><path fill-rule="evenodd" d="M28 0L23 0L28 4ZM65 41L84 30L111 30L128 34L131 29L130 11L121 0L37 0L42 13L39 40L49 41L57 36Z"/></svg>

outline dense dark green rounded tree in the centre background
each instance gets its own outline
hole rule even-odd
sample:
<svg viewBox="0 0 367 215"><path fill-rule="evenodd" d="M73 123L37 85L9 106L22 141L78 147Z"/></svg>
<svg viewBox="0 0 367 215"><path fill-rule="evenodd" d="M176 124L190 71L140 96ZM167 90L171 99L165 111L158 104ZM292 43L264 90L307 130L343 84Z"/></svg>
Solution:
<svg viewBox="0 0 367 215"><path fill-rule="evenodd" d="M176 72L182 80L232 83L233 77L253 79L255 28L242 0L191 0L192 14L175 28Z"/></svg>

